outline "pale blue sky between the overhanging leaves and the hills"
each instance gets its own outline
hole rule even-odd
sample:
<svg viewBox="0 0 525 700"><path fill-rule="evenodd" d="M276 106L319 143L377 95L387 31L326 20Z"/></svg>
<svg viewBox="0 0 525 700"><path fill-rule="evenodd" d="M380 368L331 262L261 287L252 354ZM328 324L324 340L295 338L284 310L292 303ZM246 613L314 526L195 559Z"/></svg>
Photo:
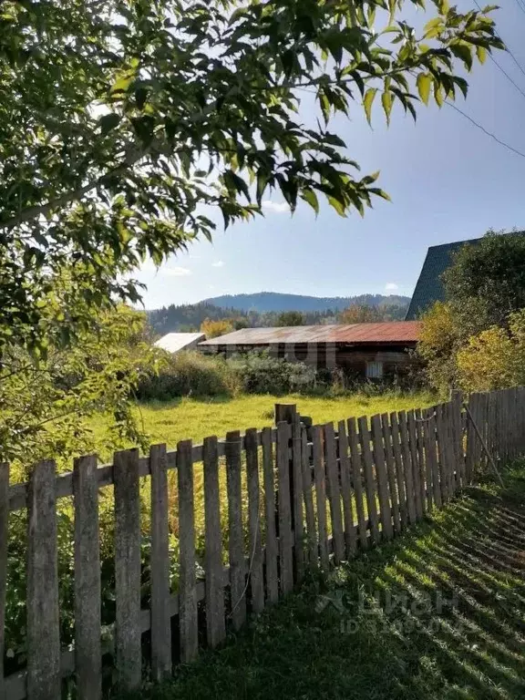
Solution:
<svg viewBox="0 0 525 700"><path fill-rule="evenodd" d="M463 11L471 6L458 4ZM504 0L494 16L525 68L525 13L518 0ZM511 57L495 57L525 92L525 75ZM458 99L458 107L525 153L525 98L489 59L468 82L468 99ZM525 158L453 109L421 105L414 124L397 108L386 128L378 102L370 129L355 103L351 119L338 118L331 130L346 140L364 174L381 171L379 184L391 202L376 201L364 219L356 213L343 219L324 202L317 218L306 205L291 217L275 196L264 218L219 229L213 243L193 243L159 271L146 265L139 273L148 287L146 307L260 291L409 295L429 245L475 238L489 228L525 228Z"/></svg>

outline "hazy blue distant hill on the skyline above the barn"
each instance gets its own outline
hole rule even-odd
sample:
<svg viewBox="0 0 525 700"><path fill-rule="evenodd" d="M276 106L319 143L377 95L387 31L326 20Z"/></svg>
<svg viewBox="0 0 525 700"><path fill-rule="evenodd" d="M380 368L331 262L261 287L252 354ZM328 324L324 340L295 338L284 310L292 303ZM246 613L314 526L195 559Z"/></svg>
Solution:
<svg viewBox="0 0 525 700"><path fill-rule="evenodd" d="M278 292L259 292L254 294L224 294L205 299L203 304L213 304L226 309L240 311L342 311L352 304L367 306L407 306L409 296L392 294L360 294L359 296L303 296L301 294L282 294Z"/></svg>

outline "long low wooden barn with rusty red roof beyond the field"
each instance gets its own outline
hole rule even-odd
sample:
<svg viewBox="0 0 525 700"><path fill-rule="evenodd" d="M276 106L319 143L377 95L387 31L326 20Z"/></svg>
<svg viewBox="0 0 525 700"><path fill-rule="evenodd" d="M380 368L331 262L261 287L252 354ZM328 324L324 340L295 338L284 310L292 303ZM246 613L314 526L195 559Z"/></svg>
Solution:
<svg viewBox="0 0 525 700"><path fill-rule="evenodd" d="M348 375L387 379L407 375L417 365L413 351L418 321L378 324L298 325L285 328L243 328L198 345L207 354L232 356L255 349L318 368L341 367Z"/></svg>

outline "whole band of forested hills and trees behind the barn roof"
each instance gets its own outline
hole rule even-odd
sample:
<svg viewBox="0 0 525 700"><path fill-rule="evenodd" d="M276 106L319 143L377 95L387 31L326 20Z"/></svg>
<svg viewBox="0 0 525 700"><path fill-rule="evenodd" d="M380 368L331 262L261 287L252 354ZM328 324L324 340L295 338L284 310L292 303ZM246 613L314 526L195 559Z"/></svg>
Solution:
<svg viewBox="0 0 525 700"><path fill-rule="evenodd" d="M248 300L256 300L257 297L260 297L259 304L262 306L276 305L277 297L283 297L283 304L274 309L249 306ZM355 304L376 306L380 309L384 320L401 321L407 313L408 302L409 299L405 296L383 296L382 294L326 299L278 293L238 294L216 297L199 304L180 306L170 304L170 306L149 311L148 315L153 330L159 335L164 335L173 331L198 331L206 319L211 321L231 319L234 328L275 326L280 324L279 315L283 311L301 312L304 325L336 324L339 321L340 312ZM297 305L290 305L293 303ZM317 303L319 303L318 308L305 308L308 304L315 306Z"/></svg>

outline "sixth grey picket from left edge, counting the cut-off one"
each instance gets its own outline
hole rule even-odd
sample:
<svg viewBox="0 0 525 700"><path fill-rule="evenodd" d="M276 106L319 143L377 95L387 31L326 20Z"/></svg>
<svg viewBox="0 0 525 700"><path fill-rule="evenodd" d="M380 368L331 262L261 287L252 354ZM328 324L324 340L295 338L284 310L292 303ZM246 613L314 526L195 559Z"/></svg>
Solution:
<svg viewBox="0 0 525 700"><path fill-rule="evenodd" d="M179 632L180 661L188 664L199 651L195 580L195 504L191 440L177 444L179 491Z"/></svg>

